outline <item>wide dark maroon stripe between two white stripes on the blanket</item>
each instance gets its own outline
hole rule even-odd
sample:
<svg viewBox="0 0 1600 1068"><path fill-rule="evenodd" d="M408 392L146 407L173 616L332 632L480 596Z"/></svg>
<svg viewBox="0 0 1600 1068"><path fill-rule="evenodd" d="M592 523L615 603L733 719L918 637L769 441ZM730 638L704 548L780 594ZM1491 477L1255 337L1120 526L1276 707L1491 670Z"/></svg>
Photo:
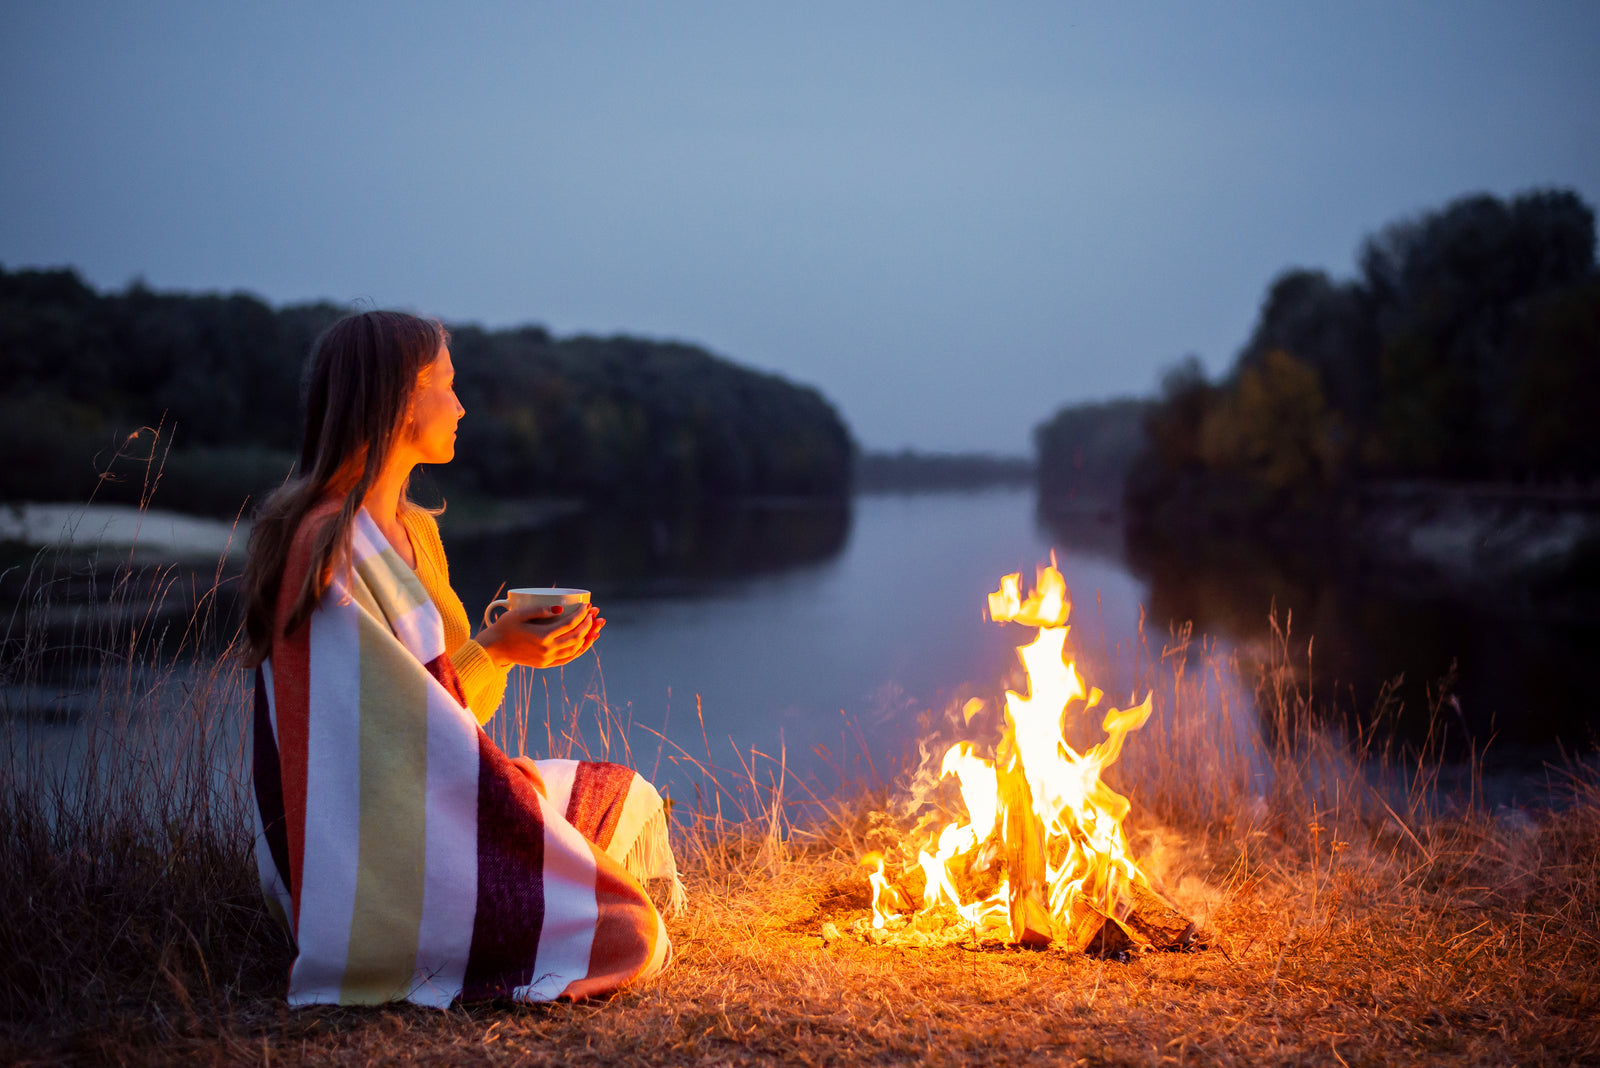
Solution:
<svg viewBox="0 0 1600 1068"><path fill-rule="evenodd" d="M478 731L478 900L462 1001L533 980L544 929L544 812L533 780Z"/></svg>

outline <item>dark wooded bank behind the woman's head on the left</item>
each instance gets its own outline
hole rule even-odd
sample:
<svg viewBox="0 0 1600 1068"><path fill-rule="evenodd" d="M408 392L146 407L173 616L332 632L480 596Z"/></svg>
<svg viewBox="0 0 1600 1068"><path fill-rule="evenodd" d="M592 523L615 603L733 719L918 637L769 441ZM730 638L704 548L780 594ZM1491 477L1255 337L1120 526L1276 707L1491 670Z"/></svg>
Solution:
<svg viewBox="0 0 1600 1068"><path fill-rule="evenodd" d="M158 470L158 505L235 515L288 475L306 355L347 312L0 269L0 499L130 500ZM450 329L469 414L446 496L848 492L854 443L814 389L678 342Z"/></svg>

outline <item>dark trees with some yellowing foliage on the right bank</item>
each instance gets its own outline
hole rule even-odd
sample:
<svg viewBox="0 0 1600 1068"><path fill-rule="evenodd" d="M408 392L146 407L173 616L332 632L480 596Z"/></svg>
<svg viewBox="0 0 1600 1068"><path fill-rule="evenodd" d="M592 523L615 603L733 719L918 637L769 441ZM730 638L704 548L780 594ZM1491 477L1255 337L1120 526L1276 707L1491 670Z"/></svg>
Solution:
<svg viewBox="0 0 1600 1068"><path fill-rule="evenodd" d="M1283 272L1226 376L1189 358L1118 412L1142 430L1123 504L1134 526L1245 529L1315 523L1374 480L1589 483L1595 412L1594 209L1466 197L1370 235L1354 278ZM1035 433L1046 497L1091 430L1115 436L1094 414Z"/></svg>

